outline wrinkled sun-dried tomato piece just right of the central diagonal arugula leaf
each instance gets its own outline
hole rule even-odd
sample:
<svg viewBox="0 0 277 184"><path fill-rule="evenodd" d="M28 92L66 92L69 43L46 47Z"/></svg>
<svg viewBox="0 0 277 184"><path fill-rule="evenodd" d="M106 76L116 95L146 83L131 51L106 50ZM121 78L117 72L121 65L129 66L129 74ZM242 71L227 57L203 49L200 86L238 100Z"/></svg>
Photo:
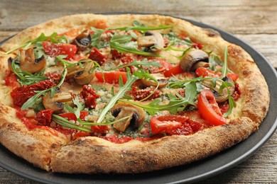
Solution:
<svg viewBox="0 0 277 184"><path fill-rule="evenodd" d="M132 96L134 97L135 100L142 100L143 98L146 98L147 96L149 96L153 91L155 90L154 86L150 86L147 88L139 88L137 86L133 86L132 87ZM161 96L161 91L160 90L156 90L149 98L148 100L154 99L154 98L158 98L159 96Z"/></svg>

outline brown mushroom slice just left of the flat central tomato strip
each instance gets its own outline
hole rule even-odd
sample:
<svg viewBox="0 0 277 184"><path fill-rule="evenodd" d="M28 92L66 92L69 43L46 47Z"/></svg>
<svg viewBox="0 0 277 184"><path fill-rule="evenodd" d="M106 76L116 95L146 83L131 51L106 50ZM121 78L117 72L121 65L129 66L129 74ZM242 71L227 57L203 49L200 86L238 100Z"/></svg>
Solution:
<svg viewBox="0 0 277 184"><path fill-rule="evenodd" d="M89 84L94 78L95 71L93 69L94 62L88 61L82 64L82 67L78 64L75 67L67 69L67 79L74 79L77 84L85 85Z"/></svg>

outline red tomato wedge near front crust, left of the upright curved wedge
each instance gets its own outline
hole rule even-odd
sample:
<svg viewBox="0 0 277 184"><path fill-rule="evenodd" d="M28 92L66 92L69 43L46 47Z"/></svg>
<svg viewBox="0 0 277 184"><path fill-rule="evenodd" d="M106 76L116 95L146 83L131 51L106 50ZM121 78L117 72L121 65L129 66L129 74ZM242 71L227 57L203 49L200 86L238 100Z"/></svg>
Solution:
<svg viewBox="0 0 277 184"><path fill-rule="evenodd" d="M188 117L180 115L161 115L153 116L150 120L151 130L153 134L167 133L180 127Z"/></svg>

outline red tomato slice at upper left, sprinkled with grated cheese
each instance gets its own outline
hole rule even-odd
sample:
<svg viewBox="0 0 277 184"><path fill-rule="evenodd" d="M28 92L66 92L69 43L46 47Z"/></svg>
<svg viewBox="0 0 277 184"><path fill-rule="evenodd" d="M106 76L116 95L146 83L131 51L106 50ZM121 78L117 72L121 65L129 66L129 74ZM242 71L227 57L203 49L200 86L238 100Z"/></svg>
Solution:
<svg viewBox="0 0 277 184"><path fill-rule="evenodd" d="M58 55L67 55L65 59L70 59L74 57L77 52L77 46L65 43L52 43L52 42L42 42L45 54L50 55L50 57L56 57Z"/></svg>

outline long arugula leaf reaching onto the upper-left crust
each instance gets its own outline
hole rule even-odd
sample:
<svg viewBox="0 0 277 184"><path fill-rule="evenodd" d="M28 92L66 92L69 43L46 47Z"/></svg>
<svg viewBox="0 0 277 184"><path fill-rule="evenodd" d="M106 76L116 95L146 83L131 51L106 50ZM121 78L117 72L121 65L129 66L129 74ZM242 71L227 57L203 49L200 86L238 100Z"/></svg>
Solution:
<svg viewBox="0 0 277 184"><path fill-rule="evenodd" d="M50 39L52 42L62 42L62 40L64 41L66 38L64 36L58 36L58 33L52 33L52 35L50 36L45 36L44 33L41 33L38 38L34 39L34 40L30 40L28 42L23 43L22 45L19 45L18 47L13 48L12 50L9 50L8 52L6 52L6 54L9 54L15 50L18 49L25 49L33 44L36 44L37 42L43 42Z"/></svg>

